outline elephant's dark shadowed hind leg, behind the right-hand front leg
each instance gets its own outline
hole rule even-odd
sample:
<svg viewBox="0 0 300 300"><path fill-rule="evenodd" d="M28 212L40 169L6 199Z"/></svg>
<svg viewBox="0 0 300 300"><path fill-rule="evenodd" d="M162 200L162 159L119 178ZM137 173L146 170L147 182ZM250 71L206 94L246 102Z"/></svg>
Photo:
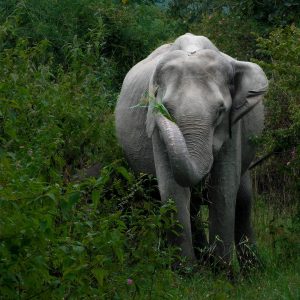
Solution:
<svg viewBox="0 0 300 300"><path fill-rule="evenodd" d="M258 266L259 259L251 224L252 184L247 171L241 178L235 210L235 245L242 270Z"/></svg>

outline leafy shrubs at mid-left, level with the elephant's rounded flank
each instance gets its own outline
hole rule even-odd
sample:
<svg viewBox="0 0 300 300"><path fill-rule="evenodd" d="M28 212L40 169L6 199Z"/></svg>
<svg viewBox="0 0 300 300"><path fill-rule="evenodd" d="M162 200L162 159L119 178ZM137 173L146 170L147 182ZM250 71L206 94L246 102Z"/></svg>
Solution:
<svg viewBox="0 0 300 300"><path fill-rule="evenodd" d="M112 142L109 113L116 98L106 90L109 70L113 72L107 60L94 69L84 62L72 72L57 70L55 76L51 57L43 61L47 47L47 41L28 47L27 40L20 39L0 55L1 158L42 180L62 176L68 166L111 156L106 145ZM83 64L80 59L73 62ZM1 176L11 180L8 174Z"/></svg>

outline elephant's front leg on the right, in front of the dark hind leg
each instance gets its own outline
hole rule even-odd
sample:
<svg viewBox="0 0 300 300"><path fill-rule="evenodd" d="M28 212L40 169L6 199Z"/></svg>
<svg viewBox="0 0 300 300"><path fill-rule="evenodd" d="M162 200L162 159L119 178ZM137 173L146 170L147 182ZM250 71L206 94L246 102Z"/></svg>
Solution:
<svg viewBox="0 0 300 300"><path fill-rule="evenodd" d="M236 196L240 182L240 148L234 139L223 146L211 171L209 242L217 265L230 266L234 248Z"/></svg>

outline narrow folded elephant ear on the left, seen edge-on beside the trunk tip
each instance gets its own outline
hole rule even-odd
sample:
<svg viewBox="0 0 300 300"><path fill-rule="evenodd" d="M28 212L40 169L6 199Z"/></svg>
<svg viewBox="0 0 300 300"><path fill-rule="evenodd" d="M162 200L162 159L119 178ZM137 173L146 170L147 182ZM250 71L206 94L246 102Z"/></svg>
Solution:
<svg viewBox="0 0 300 300"><path fill-rule="evenodd" d="M148 88L148 112L146 118L146 132L149 138L151 138L155 128L155 114L153 112L154 105L156 103L156 96L158 91L158 85L156 83L156 72L151 76L149 88Z"/></svg>

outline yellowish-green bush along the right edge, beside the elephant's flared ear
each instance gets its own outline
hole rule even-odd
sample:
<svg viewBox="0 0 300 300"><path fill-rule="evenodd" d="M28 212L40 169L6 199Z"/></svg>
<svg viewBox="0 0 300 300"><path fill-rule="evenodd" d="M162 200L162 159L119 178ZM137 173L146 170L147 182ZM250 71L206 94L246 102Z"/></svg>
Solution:
<svg viewBox="0 0 300 300"><path fill-rule="evenodd" d="M295 26L275 29L269 38L258 39L258 61L270 78L266 97L266 130L262 137L265 152L275 152L277 157L269 162L269 186L280 187L285 178L291 201L299 199L300 169L300 30ZM262 181L263 182L263 181Z"/></svg>

